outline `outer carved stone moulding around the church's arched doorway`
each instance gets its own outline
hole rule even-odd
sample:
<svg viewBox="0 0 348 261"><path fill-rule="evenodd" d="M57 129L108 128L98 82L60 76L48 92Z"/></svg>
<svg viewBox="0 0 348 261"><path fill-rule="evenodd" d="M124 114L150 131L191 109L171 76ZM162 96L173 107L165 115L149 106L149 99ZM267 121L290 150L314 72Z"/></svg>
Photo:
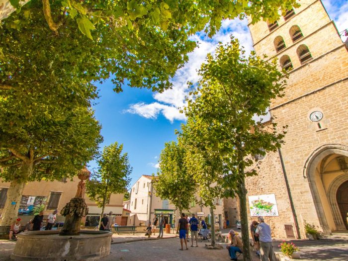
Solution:
<svg viewBox="0 0 348 261"><path fill-rule="evenodd" d="M319 223L323 229L324 234L331 234L331 229L329 228L328 221L326 219L325 211L323 208L323 204L320 199L319 191L317 188L317 184L315 182L315 169L321 163L321 161L332 154L338 154L348 157L348 146L342 144L325 144L315 151L313 151L303 166L303 177L308 179L309 187L311 189L313 201L315 204L315 209L317 211L317 216L319 219ZM341 182L342 184L342 182ZM330 191L330 190L328 190ZM336 189L337 191L337 189ZM336 194L335 194L336 195ZM329 198L328 198L329 199ZM329 199L330 200L330 199ZM336 203L337 204L337 203ZM335 216L335 213L333 213ZM342 220L342 217L341 217ZM336 224L336 222L335 222ZM339 228L339 227L338 227Z"/></svg>

